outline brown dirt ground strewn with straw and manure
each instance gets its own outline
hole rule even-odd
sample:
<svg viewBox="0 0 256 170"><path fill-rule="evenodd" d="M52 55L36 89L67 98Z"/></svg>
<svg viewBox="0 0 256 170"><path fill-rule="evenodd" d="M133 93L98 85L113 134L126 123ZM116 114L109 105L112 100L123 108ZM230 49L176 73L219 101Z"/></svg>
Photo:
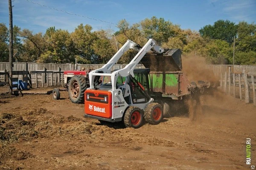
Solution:
<svg viewBox="0 0 256 170"><path fill-rule="evenodd" d="M201 119L163 119L139 129L84 118L67 92L0 99L0 169L233 170L256 164L256 107L215 93Z"/></svg>

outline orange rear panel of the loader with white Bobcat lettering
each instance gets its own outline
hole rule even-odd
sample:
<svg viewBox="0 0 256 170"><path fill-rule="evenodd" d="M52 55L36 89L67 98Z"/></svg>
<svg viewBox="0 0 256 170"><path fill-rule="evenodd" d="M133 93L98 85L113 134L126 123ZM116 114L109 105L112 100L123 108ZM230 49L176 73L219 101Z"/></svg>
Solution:
<svg viewBox="0 0 256 170"><path fill-rule="evenodd" d="M88 89L85 91L84 113L110 119L112 117L112 94L109 91Z"/></svg>

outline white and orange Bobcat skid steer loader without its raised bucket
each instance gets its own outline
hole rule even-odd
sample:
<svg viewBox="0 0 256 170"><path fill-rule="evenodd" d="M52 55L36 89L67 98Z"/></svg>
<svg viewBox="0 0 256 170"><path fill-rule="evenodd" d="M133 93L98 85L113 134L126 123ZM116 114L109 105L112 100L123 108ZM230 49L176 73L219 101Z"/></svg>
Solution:
<svg viewBox="0 0 256 170"><path fill-rule="evenodd" d="M138 51L129 64L120 70L111 68L128 49ZM122 121L126 127L138 128L143 120L158 124L163 119L162 106L154 102L149 92L149 69L135 69L143 56L152 49L161 54L161 48L153 39L141 48L128 40L102 68L89 73L90 87L85 91L84 116L108 122ZM95 77L101 76L101 85L95 86Z"/></svg>

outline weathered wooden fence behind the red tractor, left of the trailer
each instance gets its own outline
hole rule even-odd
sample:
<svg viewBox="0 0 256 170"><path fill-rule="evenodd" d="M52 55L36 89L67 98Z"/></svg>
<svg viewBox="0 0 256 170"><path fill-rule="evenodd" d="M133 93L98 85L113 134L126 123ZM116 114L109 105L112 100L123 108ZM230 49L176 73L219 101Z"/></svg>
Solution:
<svg viewBox="0 0 256 170"><path fill-rule="evenodd" d="M101 68L103 64L97 65L82 65L82 64L42 64L42 63L27 63L15 62L13 66L13 81L21 79L28 81L30 78L30 88L40 88L64 84L64 71L65 70L85 70ZM125 65L114 65L112 71L115 69L124 68ZM143 65L137 65L136 68L143 68ZM9 76L9 63L0 62L0 85L8 85ZM18 71L17 71L18 70ZM17 74L16 74L17 73Z"/></svg>

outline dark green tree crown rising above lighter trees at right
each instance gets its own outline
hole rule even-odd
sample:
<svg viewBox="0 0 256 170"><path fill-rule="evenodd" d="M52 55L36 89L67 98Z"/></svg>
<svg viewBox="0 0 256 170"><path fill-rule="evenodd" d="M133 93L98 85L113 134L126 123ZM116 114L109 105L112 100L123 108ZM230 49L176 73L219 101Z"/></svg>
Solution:
<svg viewBox="0 0 256 170"><path fill-rule="evenodd" d="M224 40L232 43L237 34L238 26L229 20L218 20L213 25L204 26L199 30L202 37Z"/></svg>

